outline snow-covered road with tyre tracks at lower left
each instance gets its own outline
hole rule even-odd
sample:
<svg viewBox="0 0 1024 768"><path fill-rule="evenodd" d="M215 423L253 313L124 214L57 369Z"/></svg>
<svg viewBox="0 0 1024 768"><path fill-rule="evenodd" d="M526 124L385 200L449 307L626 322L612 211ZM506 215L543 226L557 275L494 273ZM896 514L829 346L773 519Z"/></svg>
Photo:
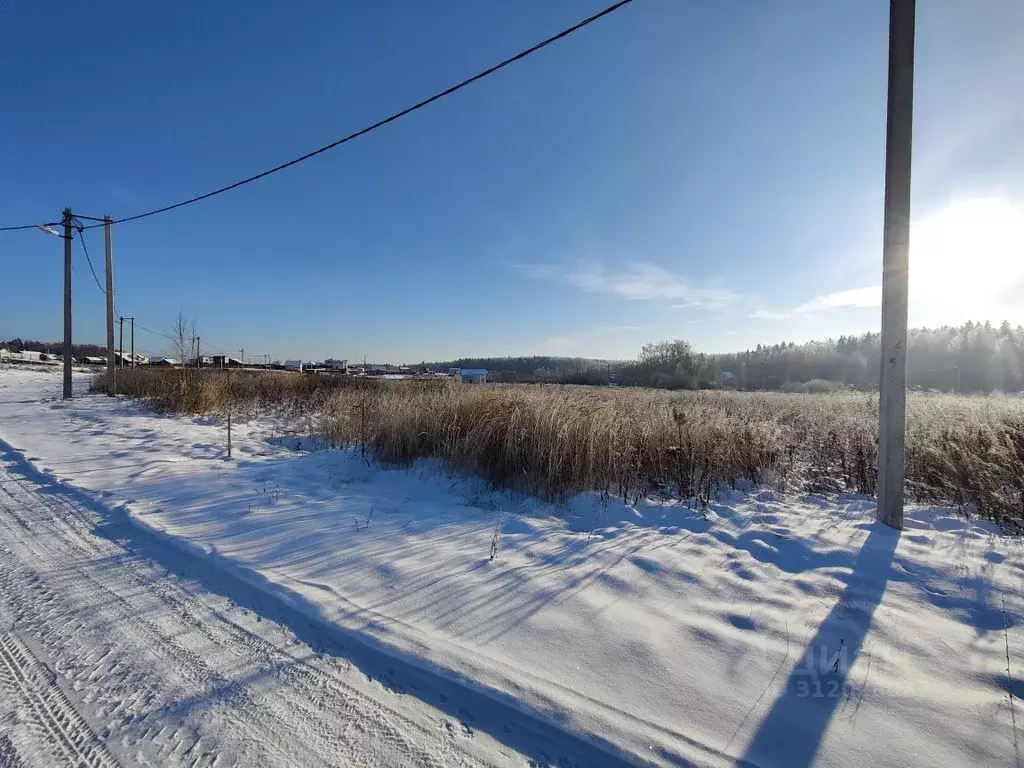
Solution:
<svg viewBox="0 0 1024 768"><path fill-rule="evenodd" d="M472 693L346 648L0 454L0 765L527 764L474 727ZM590 764L531 725L504 727Z"/></svg>

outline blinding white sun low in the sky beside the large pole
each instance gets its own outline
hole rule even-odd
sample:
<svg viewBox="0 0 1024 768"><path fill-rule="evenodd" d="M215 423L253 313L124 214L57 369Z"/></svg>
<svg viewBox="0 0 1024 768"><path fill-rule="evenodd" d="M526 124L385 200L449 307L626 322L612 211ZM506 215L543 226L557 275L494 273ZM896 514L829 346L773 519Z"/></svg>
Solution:
<svg viewBox="0 0 1024 768"><path fill-rule="evenodd" d="M932 325L1002 319L992 312L1024 303L1015 290L1024 286L1024 209L975 198L915 221L909 279L910 301Z"/></svg>

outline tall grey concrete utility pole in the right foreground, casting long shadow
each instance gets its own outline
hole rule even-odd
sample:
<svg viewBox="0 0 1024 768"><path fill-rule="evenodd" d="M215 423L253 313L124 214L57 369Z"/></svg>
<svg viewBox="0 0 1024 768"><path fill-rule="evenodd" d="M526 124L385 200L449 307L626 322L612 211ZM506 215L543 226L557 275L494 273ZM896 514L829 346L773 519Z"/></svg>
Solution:
<svg viewBox="0 0 1024 768"><path fill-rule="evenodd" d="M914 0L889 3L889 103L882 268L878 518L903 527L906 463L906 314L910 246Z"/></svg>

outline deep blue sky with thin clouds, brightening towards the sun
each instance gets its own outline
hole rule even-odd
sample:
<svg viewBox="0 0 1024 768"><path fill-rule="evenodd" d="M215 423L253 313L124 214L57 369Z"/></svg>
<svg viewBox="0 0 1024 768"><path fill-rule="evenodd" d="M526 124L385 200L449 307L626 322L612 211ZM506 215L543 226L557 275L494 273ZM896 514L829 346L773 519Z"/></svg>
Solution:
<svg viewBox="0 0 1024 768"><path fill-rule="evenodd" d="M0 224L191 197L606 4L13 0ZM911 322L1024 322L1024 4L918 16ZM247 353L392 361L876 330L887 31L885 0L635 0L306 164L115 227L118 307L163 331L180 308ZM0 234L0 337L60 337L60 254ZM76 341L101 341L78 243L75 281Z"/></svg>

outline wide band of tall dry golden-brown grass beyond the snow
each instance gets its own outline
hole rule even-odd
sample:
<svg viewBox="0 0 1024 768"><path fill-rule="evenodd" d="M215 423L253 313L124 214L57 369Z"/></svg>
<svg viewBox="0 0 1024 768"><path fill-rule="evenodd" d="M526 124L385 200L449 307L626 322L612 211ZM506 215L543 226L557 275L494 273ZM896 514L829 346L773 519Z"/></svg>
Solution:
<svg viewBox="0 0 1024 768"><path fill-rule="evenodd" d="M99 387L102 387L100 383ZM136 370L118 390L181 413L287 407L335 444L436 457L545 498L598 490L707 501L739 480L871 495L877 396L461 386L286 373ZM1024 519L1024 401L911 395L907 480L920 500Z"/></svg>

